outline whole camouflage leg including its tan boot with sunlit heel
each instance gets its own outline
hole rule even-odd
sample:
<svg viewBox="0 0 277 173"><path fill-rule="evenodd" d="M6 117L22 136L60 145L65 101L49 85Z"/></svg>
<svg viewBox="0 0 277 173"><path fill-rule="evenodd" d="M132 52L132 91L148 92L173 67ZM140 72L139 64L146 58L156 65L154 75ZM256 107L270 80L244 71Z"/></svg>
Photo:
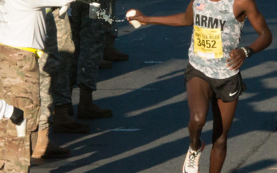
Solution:
<svg viewBox="0 0 277 173"><path fill-rule="evenodd" d="M31 157L68 157L70 155L70 150L56 146L48 138L49 119L53 112L53 102L50 94L51 76L48 72L52 71L51 74L57 74L59 61L54 55L44 53L38 62L40 66L41 114L37 132L37 143ZM47 72L44 70L47 70ZM31 136L33 137L33 135Z"/></svg>

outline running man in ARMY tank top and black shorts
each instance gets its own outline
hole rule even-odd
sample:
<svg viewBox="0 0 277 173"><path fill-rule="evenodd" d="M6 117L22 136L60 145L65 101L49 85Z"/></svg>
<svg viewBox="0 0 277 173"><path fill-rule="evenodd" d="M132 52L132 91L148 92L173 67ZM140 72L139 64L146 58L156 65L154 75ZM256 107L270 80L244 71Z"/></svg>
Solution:
<svg viewBox="0 0 277 173"><path fill-rule="evenodd" d="M239 48L240 34L248 18L259 37ZM185 71L190 121L190 147L183 173L198 173L198 161L204 142L200 136L205 125L209 102L212 103L213 131L210 173L222 169L227 136L237 107L238 97L246 89L240 75L244 60L267 48L272 34L254 0L191 0L186 12L162 17L144 16L136 10L143 25L194 26Z"/></svg>

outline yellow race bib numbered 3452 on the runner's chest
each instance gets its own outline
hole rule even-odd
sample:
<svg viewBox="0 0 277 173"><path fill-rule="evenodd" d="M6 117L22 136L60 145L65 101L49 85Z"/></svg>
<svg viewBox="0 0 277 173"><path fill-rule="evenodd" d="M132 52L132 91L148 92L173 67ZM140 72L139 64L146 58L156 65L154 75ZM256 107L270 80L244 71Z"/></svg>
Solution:
<svg viewBox="0 0 277 173"><path fill-rule="evenodd" d="M201 58L223 58L221 30L194 26L194 53Z"/></svg>

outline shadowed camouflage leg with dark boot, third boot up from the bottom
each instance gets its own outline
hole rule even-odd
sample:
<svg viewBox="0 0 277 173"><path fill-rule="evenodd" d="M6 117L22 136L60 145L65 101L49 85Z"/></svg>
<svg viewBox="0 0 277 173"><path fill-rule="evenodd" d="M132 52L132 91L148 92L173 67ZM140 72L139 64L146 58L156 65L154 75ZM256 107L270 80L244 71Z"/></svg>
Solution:
<svg viewBox="0 0 277 173"><path fill-rule="evenodd" d="M92 92L96 91L99 62L103 58L108 23L99 19L83 18L80 30L80 56L77 83L80 88L78 118L111 117L112 111L93 103Z"/></svg>

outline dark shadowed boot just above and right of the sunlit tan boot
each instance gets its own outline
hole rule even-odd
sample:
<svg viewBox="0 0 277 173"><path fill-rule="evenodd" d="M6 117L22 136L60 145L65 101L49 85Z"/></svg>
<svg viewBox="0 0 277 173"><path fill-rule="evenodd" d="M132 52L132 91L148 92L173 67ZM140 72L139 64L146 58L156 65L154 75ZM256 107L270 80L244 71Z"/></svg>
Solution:
<svg viewBox="0 0 277 173"><path fill-rule="evenodd" d="M90 131L89 125L77 122L69 115L69 104L54 107L54 132L86 133Z"/></svg>

